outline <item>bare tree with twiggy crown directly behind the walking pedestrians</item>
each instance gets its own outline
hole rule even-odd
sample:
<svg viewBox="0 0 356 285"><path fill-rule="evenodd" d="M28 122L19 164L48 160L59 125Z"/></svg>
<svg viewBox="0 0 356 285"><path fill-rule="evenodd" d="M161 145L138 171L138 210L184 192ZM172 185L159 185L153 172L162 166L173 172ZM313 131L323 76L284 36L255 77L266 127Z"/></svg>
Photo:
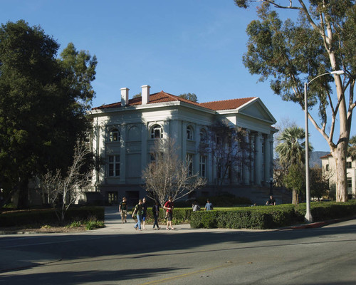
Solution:
<svg viewBox="0 0 356 285"><path fill-rule="evenodd" d="M180 199L203 187L206 181L199 173L191 173L192 161L179 160L172 139L156 140L151 152L151 162L143 172L147 196L163 207L169 196Z"/></svg>

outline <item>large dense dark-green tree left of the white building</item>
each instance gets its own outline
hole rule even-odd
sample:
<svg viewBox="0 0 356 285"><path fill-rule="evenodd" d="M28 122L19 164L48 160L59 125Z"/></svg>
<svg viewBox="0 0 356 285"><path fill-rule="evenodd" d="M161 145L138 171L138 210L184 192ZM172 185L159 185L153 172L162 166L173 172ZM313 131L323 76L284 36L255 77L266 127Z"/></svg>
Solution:
<svg viewBox="0 0 356 285"><path fill-rule="evenodd" d="M57 58L58 48L40 26L0 26L0 186L19 192L19 207L32 177L66 171L89 126L96 58L72 43Z"/></svg>

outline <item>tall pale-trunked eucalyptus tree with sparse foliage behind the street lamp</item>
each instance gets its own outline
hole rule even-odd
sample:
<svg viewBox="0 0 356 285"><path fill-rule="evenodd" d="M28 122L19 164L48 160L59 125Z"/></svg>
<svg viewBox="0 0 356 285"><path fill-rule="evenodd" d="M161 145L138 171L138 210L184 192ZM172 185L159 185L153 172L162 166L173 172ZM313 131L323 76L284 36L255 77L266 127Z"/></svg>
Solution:
<svg viewBox="0 0 356 285"><path fill-rule="evenodd" d="M234 2L245 9L253 2L261 4L259 19L251 21L246 30L249 38L243 61L250 73L260 75L260 81L271 78L274 93L301 108L303 83L315 78L309 85L308 106L318 108L318 115L309 112L308 118L328 142L335 158L337 201L347 201L347 145L356 106L355 1ZM281 20L276 11L287 10L295 11L298 21ZM339 70L345 71L344 76L328 74Z"/></svg>

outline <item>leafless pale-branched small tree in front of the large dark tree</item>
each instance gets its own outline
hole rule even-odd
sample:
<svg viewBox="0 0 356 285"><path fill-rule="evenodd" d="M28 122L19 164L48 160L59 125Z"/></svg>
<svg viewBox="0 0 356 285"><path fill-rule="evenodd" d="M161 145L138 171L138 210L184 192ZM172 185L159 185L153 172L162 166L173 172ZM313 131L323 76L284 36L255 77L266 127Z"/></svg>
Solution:
<svg viewBox="0 0 356 285"><path fill-rule="evenodd" d="M48 197L58 219L64 222L66 212L71 204L77 201L85 192L91 176L90 169L83 171L86 157L90 154L89 148L81 142L75 145L73 163L68 167L66 175L61 170L48 172L41 178L41 189Z"/></svg>

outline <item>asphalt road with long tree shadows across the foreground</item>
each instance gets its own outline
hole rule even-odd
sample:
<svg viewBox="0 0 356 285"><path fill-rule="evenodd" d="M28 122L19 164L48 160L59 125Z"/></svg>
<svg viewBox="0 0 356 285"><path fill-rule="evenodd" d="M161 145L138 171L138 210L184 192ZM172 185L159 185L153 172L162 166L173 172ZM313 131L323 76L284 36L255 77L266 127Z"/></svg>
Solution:
<svg viewBox="0 0 356 285"><path fill-rule="evenodd" d="M356 284L356 220L312 229L0 237L0 284Z"/></svg>

